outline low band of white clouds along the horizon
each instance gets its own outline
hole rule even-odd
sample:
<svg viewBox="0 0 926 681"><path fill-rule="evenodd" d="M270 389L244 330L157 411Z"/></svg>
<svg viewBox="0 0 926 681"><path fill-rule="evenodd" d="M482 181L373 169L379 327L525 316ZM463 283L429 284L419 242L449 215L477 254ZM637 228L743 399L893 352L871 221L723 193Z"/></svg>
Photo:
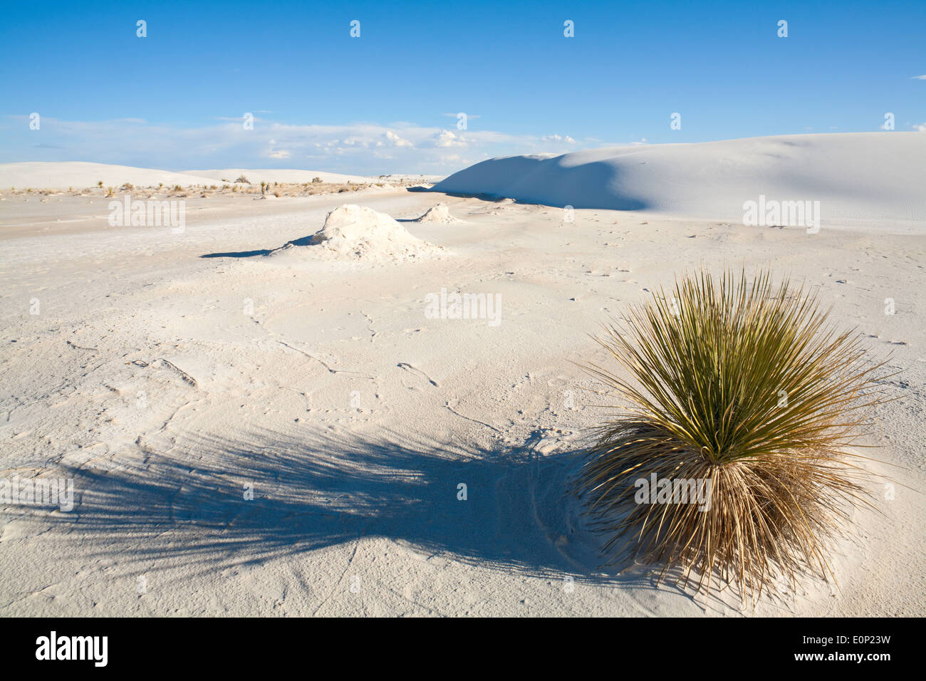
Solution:
<svg viewBox="0 0 926 681"><path fill-rule="evenodd" d="M30 131L28 117L0 126L6 161L91 160L143 168L276 167L378 175L385 172L450 173L494 156L574 150L569 135L513 135L447 130L414 123L356 122L292 125L255 119L220 120L197 128L141 120L56 120L44 117ZM587 142L586 142L587 144Z"/></svg>

